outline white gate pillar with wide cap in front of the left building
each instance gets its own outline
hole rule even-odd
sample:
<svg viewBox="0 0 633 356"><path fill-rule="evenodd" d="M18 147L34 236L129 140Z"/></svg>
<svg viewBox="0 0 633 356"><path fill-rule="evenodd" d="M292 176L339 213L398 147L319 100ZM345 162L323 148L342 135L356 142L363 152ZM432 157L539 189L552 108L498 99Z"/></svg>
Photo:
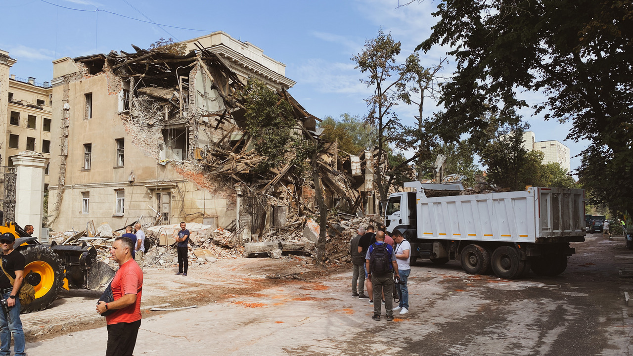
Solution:
<svg viewBox="0 0 633 356"><path fill-rule="evenodd" d="M44 170L48 158L35 151L22 151L9 157L17 169L15 222L24 228L32 225L33 236L42 236L44 211Z"/></svg>

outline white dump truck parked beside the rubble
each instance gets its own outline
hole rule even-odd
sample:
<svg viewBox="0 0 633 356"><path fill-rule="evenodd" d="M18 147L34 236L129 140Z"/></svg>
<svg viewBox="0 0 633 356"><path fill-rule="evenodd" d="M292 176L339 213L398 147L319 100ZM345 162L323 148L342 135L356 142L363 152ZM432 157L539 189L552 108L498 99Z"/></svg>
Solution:
<svg viewBox="0 0 633 356"><path fill-rule="evenodd" d="M537 188L508 193L458 195L461 183L404 183L415 192L392 193L385 206L387 231L411 243L411 262L460 259L470 274L516 279L530 269L556 276L585 241L584 189ZM427 198L425 189L441 191ZM454 193L453 195L451 194Z"/></svg>

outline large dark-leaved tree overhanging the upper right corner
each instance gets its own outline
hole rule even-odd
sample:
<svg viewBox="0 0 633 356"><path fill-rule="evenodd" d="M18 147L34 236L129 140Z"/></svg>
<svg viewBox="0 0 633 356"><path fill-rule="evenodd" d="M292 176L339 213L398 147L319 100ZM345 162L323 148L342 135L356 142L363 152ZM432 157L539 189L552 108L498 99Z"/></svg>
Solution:
<svg viewBox="0 0 633 356"><path fill-rule="evenodd" d="M443 139L481 138L486 112L501 117L546 94L535 113L572 122L587 139L579 176L596 201L633 211L633 6L631 0L441 1L418 48L449 46L456 72L442 86ZM487 106L487 103L492 103Z"/></svg>

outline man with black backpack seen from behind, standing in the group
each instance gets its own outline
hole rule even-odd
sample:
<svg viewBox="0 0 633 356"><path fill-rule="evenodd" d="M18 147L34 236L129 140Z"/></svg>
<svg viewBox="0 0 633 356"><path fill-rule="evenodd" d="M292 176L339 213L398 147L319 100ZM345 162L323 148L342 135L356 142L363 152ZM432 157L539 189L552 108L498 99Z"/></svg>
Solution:
<svg viewBox="0 0 633 356"><path fill-rule="evenodd" d="M367 255L365 255L365 265L367 266L368 277L373 284L373 300L380 300L380 296L384 295L387 321L392 321L394 319L394 273L396 277L399 278L400 276L398 275L396 254L391 245L385 243L384 232L377 232L376 242L369 246ZM381 303L373 303L373 320L380 320L380 309Z"/></svg>

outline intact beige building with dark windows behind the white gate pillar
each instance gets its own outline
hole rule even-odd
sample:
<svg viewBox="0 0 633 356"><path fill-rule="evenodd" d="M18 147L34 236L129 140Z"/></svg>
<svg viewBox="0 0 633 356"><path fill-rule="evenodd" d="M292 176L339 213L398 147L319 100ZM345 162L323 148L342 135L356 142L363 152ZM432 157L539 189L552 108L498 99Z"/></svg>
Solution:
<svg viewBox="0 0 633 356"><path fill-rule="evenodd" d="M21 151L36 151L44 157L51 155L53 115L53 87L49 82L37 83L35 78L22 79L10 74L16 60L0 50L0 132L4 140L0 146L0 165L9 166L10 156ZM44 178L49 184L49 170Z"/></svg>

